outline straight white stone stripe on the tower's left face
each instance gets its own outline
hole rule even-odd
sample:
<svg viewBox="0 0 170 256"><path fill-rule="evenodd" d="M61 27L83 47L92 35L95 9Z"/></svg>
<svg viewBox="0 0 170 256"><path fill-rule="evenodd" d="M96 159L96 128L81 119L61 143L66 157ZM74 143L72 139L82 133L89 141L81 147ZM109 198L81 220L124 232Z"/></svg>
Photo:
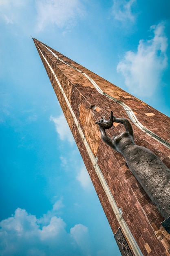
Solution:
<svg viewBox="0 0 170 256"><path fill-rule="evenodd" d="M40 50L39 47L38 47L38 49ZM41 50L40 50L40 53L42 54ZM97 173L97 176L98 176L98 178L99 178L99 180L100 180L100 182L102 184L102 187L103 187L103 189L104 189L104 191L105 191L105 193L107 195L107 198L108 198L108 200L110 202L110 205L111 205L111 207L112 207L112 209L113 209L113 211L114 211L114 213L115 213L115 215L117 217L117 220L119 222L119 225L120 225L122 231L124 232L128 242L130 243L130 246L131 246L133 252L135 253L135 256L143 256L143 254L141 253L141 250L139 249L135 239L133 238L133 236L132 236L128 226L126 225L126 222L125 222L124 218L121 216L119 208L117 207L117 204L116 204L116 202L115 202L115 200L113 198L113 195L110 192L110 189L108 188L106 180L104 179L104 176L103 176L103 174L102 174L102 172L101 172L101 170L100 170L100 168L99 168L99 166L97 164L97 161L96 161L96 159L95 159L95 157L93 155L93 152L92 152L90 146L88 145L88 142L87 142L87 140L86 140L86 138L84 136L84 133L83 133L81 127L79 126L78 120L77 120L77 118L76 118L76 116L75 116L75 114L73 112L73 109L71 108L71 105L70 105L70 103L69 103L69 101L68 101L68 99L66 97L66 94L65 94L65 92L64 92L64 90L63 90L63 88L62 88L62 86L61 86L61 84L59 82L59 80L57 79L57 76L55 75L55 72L53 71L52 67L49 65L49 62L46 60L45 56L43 54L42 54L42 56L43 56L44 60L46 61L47 65L49 66L49 68L50 68L53 76L55 77L55 80L56 80L56 82L57 82L57 84L58 84L58 86L59 86L59 88L60 88L60 90L61 90L61 92L63 94L63 97L64 97L64 99L65 99L65 101L67 103L67 106L68 106L68 108L69 108L69 110L71 112L71 115L72 115L72 117L74 119L75 125L77 126L79 134L80 134L80 136L81 136L81 138L83 140L84 146L86 147L88 155L89 155L89 157L91 159L91 162L93 164L93 168L95 169L95 172Z"/></svg>

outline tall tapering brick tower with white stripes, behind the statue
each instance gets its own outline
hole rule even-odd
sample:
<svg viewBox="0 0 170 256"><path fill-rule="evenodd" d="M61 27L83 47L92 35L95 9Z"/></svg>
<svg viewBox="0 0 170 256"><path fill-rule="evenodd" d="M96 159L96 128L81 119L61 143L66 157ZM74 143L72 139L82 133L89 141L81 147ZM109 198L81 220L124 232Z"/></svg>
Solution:
<svg viewBox="0 0 170 256"><path fill-rule="evenodd" d="M95 122L110 111L132 124L137 145L170 168L170 119L102 77L33 39L122 255L170 256L163 217ZM114 123L109 137L124 131ZM169 142L168 142L169 141ZM165 228L164 228L165 227Z"/></svg>

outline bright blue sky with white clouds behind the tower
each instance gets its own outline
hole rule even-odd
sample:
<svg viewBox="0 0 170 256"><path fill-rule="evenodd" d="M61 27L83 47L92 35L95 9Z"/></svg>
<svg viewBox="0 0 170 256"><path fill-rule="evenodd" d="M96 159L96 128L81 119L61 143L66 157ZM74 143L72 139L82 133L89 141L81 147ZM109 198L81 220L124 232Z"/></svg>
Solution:
<svg viewBox="0 0 170 256"><path fill-rule="evenodd" d="M169 10L0 0L0 255L120 255L30 35L169 116Z"/></svg>

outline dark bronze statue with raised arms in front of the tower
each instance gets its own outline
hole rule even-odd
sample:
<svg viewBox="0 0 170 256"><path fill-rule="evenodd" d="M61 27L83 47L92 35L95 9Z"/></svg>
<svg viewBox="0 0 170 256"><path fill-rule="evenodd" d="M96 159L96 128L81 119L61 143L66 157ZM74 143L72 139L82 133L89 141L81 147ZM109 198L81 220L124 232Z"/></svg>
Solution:
<svg viewBox="0 0 170 256"><path fill-rule="evenodd" d="M123 124L126 131L110 139L106 129L113 122ZM117 118L110 113L109 120L101 118L99 125L102 139L126 159L130 171L137 178L163 218L170 216L170 169L148 148L135 144L133 130L126 118Z"/></svg>

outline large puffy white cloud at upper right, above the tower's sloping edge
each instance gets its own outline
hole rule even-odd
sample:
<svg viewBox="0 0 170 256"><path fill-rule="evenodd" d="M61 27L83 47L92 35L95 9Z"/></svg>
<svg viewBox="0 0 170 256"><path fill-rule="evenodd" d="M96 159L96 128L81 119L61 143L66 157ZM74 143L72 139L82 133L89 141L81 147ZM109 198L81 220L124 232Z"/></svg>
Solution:
<svg viewBox="0 0 170 256"><path fill-rule="evenodd" d="M123 74L130 92L148 97L154 94L168 65L168 38L164 33L164 24L159 23L151 29L154 37L147 41L140 40L137 52L126 52L117 65L117 72Z"/></svg>

